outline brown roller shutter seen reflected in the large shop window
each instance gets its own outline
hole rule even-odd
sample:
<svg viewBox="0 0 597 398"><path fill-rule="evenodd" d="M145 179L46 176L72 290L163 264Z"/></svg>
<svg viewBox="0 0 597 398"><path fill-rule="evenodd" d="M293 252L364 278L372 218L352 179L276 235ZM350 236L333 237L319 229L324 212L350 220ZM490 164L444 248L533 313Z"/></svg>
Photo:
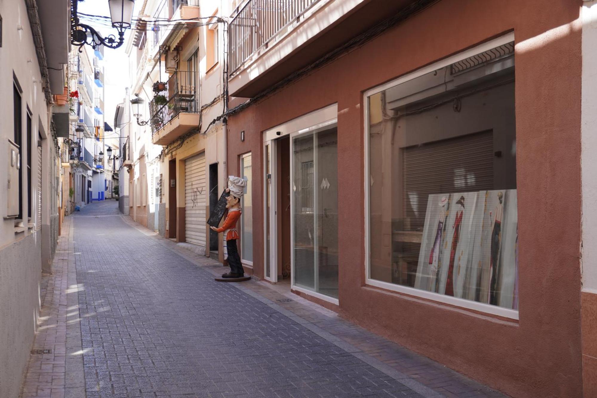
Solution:
<svg viewBox="0 0 597 398"><path fill-rule="evenodd" d="M493 158L493 131L404 148L405 229L423 230L430 194L493 189Z"/></svg>

